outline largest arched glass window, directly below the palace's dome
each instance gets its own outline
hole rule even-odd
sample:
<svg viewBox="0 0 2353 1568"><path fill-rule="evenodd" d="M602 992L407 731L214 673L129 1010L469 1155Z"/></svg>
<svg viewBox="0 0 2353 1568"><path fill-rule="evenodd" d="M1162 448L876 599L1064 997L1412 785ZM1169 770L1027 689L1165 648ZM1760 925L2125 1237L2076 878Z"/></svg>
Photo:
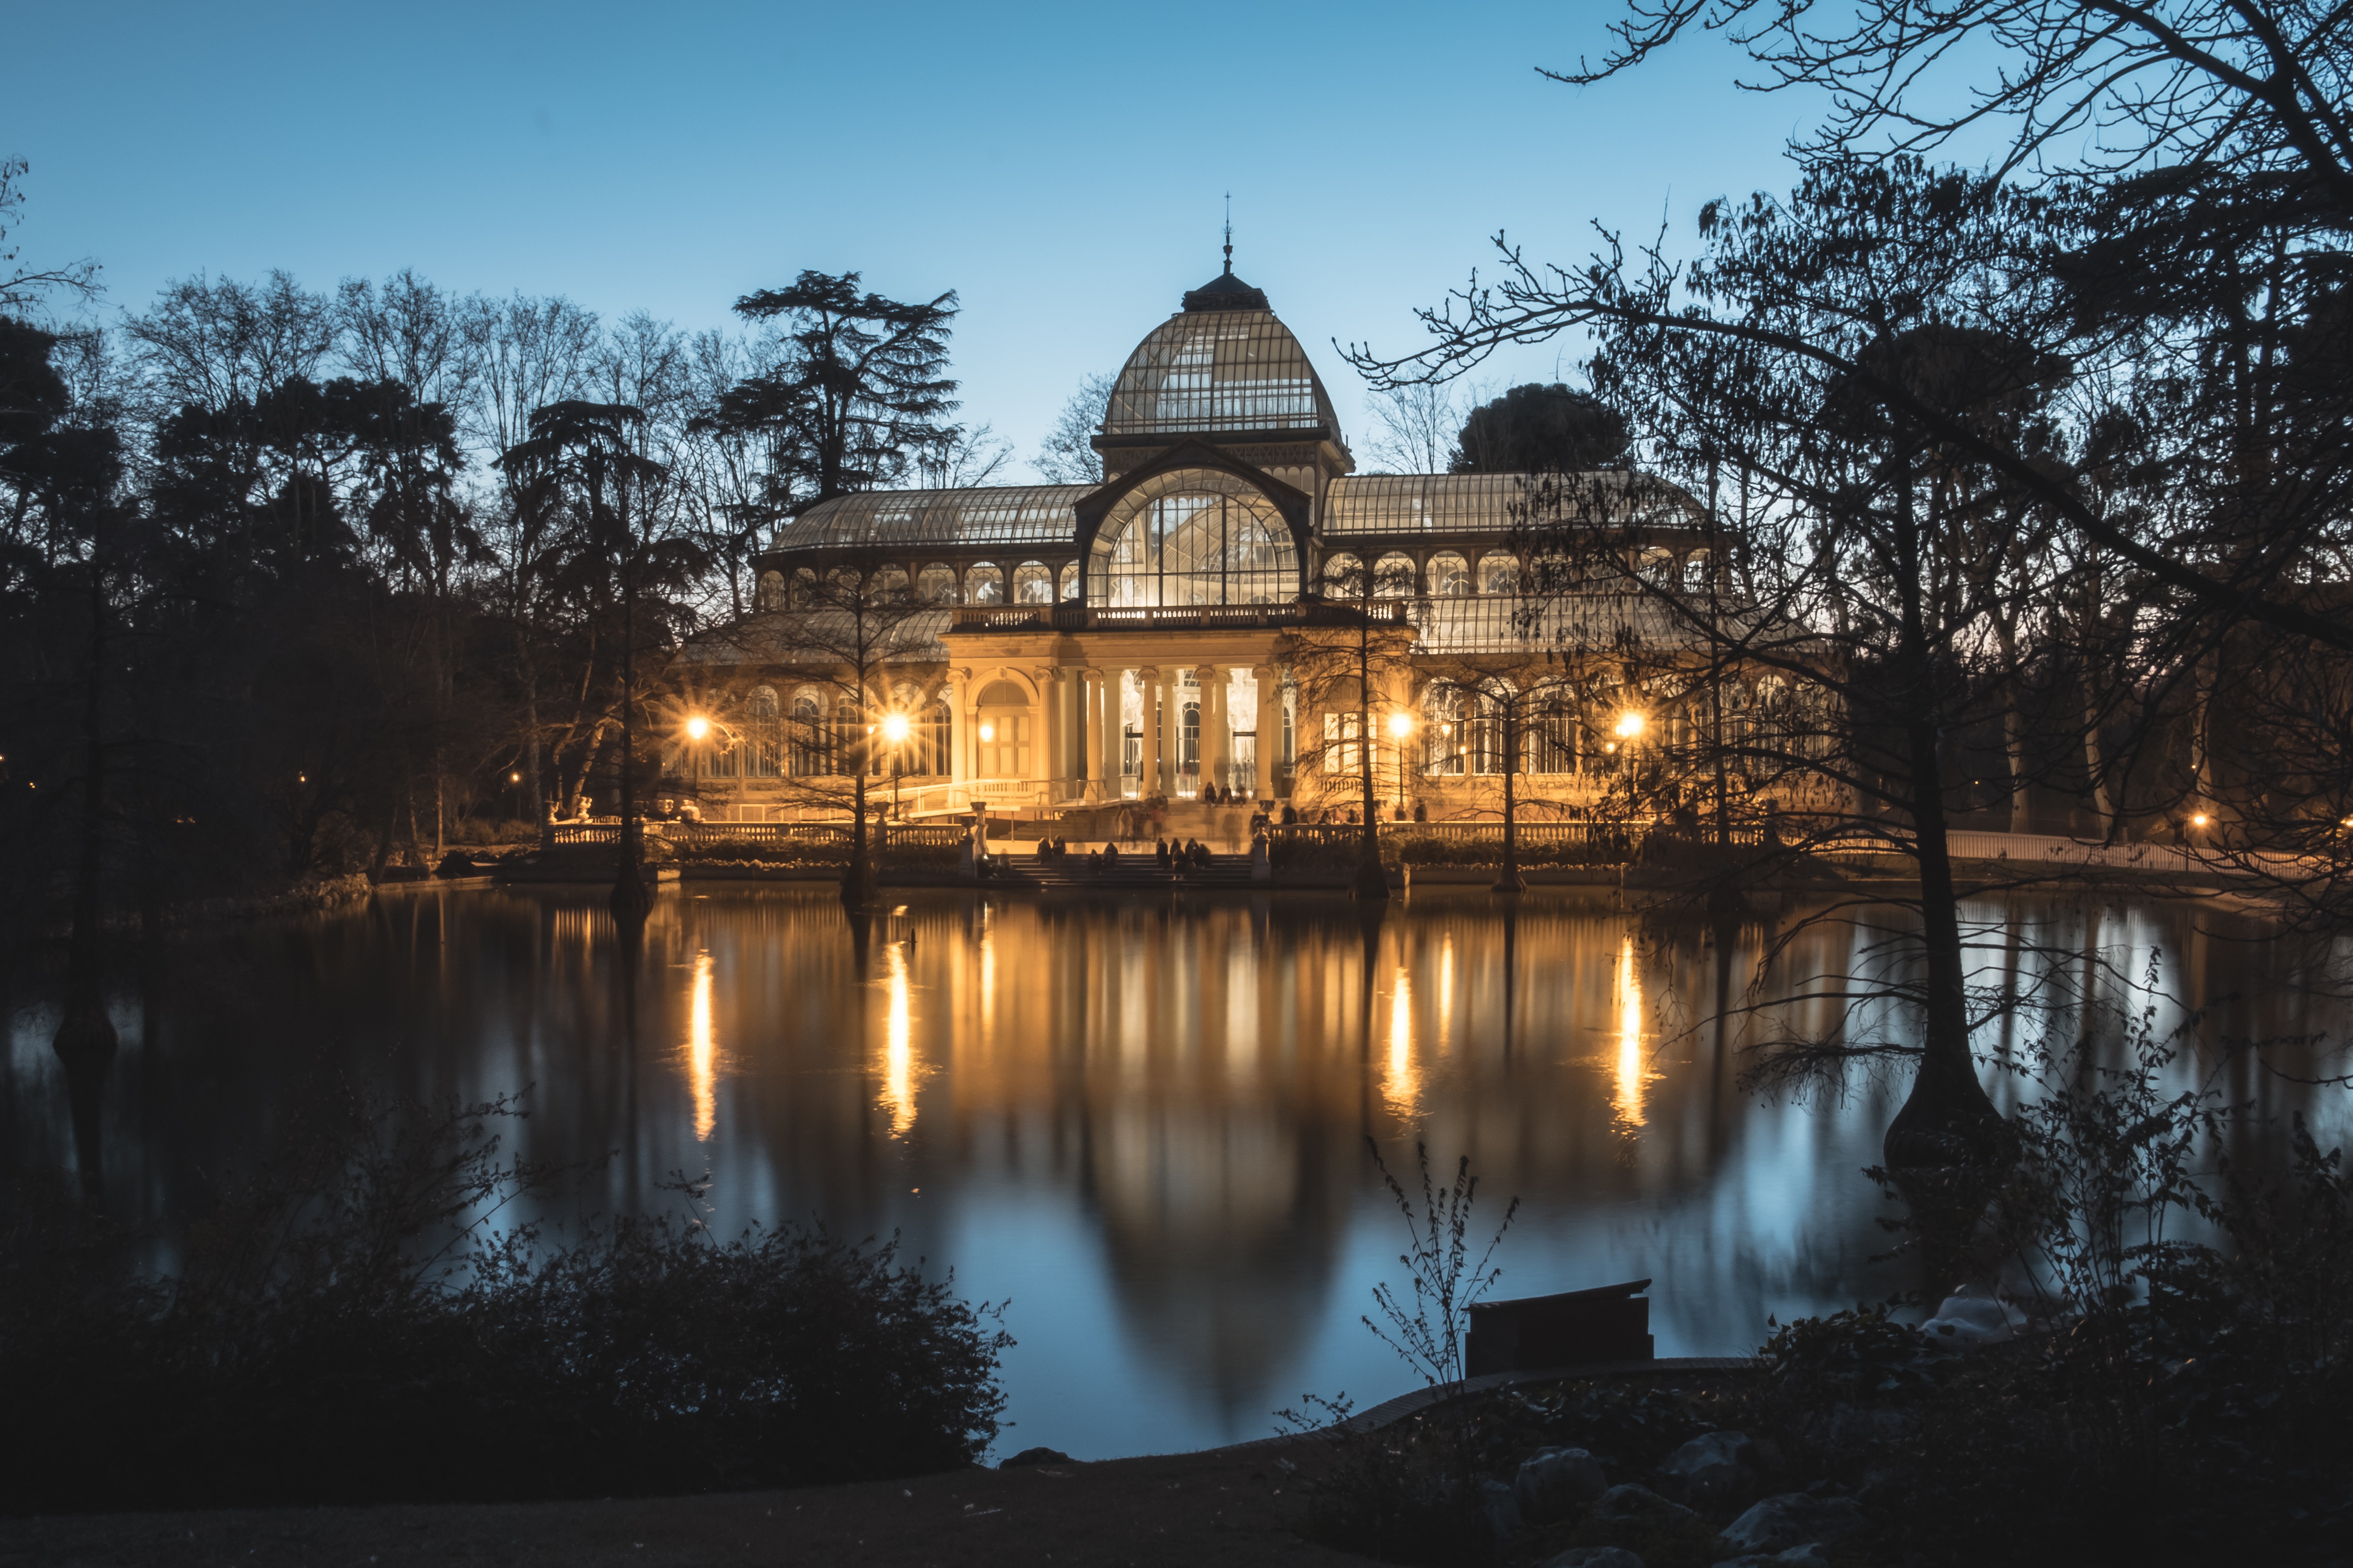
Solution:
<svg viewBox="0 0 2353 1568"><path fill-rule="evenodd" d="M1299 597L1299 552L1273 501L1233 475L1186 468L1104 517L1087 597L1099 609L1280 604Z"/></svg>

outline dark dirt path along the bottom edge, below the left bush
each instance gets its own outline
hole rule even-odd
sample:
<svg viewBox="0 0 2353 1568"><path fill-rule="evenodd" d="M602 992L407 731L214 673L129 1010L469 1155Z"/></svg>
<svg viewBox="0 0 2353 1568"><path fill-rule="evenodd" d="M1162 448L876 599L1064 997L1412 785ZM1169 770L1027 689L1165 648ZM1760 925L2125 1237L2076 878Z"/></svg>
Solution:
<svg viewBox="0 0 2353 1568"><path fill-rule="evenodd" d="M1292 1533L1297 1512L1292 1495L1278 1493L1278 1453L1252 1446L713 1497L7 1519L0 1566L1365 1563Z"/></svg>

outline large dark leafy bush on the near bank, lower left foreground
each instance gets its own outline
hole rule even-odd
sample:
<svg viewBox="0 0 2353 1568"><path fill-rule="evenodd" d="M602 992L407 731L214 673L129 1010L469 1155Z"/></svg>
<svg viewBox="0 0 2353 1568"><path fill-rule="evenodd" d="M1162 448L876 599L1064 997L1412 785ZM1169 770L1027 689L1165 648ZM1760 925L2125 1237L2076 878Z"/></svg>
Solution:
<svg viewBox="0 0 2353 1568"><path fill-rule="evenodd" d="M169 1272L19 1185L0 1507L685 1493L981 1458L1009 1345L988 1307L821 1227L492 1229L551 1180L496 1157L504 1114L296 1135Z"/></svg>

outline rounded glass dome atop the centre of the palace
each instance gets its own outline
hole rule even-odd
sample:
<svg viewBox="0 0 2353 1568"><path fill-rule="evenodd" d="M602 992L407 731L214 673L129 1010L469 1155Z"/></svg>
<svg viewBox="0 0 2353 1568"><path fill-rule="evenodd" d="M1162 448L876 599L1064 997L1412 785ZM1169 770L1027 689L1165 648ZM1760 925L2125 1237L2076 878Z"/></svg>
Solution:
<svg viewBox="0 0 2353 1568"><path fill-rule="evenodd" d="M1184 310L1127 355L1104 409L1104 435L1235 435L1320 430L1339 418L1308 353L1266 294L1231 270L1184 296Z"/></svg>

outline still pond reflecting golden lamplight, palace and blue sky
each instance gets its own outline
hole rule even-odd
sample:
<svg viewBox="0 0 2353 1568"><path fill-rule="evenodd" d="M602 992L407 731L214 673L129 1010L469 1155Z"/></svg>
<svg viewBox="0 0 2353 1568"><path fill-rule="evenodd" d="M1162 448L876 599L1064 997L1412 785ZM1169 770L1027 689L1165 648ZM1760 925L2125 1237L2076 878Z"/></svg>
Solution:
<svg viewBox="0 0 2353 1568"><path fill-rule="evenodd" d="M2195 1006L2212 1039L2334 1046L2311 954L2247 940L2245 917L2094 898L1967 912L1979 980L2047 1001L2052 1027L2073 1027L2087 983L2137 1009L2155 966L2160 1030ZM1748 990L1800 914L1718 933L1607 896L1506 917L1438 891L1367 926L1318 896L904 893L861 933L831 889L687 884L664 889L621 976L602 891L388 891L176 943L115 999L106 1187L167 1234L322 1081L527 1093L518 1154L612 1154L588 1208L678 1201L656 1182L708 1173L720 1227L899 1232L1005 1302L1002 1450L1202 1448L1266 1436L1306 1392L1417 1387L1360 1321L1377 1281L1405 1281L1367 1138L1407 1178L1417 1140L1447 1168L1468 1154L1482 1225L1520 1199L1501 1295L1652 1279L1664 1356L1746 1354L1767 1316L1913 1284L1873 1260L1889 1206L1861 1175L1901 1079L1755 1095L1744 1044L1826 1030L1828 1004L1713 1023L1889 961L1826 924ZM5 1126L19 1166L66 1171L56 1011L21 985ZM1991 1023L1984 1044L2024 1027L2040 1025ZM2214 1072L2271 1126L2311 1093L2245 1058Z"/></svg>

